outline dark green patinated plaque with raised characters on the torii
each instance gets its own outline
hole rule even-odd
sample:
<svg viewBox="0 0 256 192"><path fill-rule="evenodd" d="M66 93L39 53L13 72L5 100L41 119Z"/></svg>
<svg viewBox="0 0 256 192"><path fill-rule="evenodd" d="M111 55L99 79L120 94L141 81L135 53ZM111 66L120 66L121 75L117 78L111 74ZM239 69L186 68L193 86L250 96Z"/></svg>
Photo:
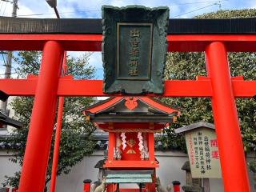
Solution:
<svg viewBox="0 0 256 192"><path fill-rule="evenodd" d="M102 6L104 93L162 94L168 23L168 7Z"/></svg>

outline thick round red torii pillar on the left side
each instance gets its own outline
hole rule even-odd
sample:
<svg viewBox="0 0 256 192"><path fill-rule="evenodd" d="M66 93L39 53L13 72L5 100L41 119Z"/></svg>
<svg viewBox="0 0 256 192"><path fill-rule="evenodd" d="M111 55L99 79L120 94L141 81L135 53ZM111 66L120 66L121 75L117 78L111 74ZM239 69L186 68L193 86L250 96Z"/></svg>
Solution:
<svg viewBox="0 0 256 192"><path fill-rule="evenodd" d="M44 190L62 58L63 50L60 43L54 41L45 43L18 187L19 192Z"/></svg>

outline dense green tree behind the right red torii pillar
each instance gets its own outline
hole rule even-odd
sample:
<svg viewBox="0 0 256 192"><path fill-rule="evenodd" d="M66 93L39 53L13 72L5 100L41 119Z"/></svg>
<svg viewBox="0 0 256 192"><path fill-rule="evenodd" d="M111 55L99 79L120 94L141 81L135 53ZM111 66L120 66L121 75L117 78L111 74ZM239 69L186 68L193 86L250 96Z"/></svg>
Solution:
<svg viewBox="0 0 256 192"><path fill-rule="evenodd" d="M256 10L220 10L216 13L203 14L196 18L250 18L256 17ZM231 76L243 75L246 80L256 79L256 55L249 52L229 53ZM171 52L167 55L166 79L195 79L197 75L206 76L205 58L202 52ZM177 106L182 115L176 124L165 130L168 138L162 138L167 145L185 149L182 135L174 136L174 129L190 123L214 122L209 98L163 98L163 102ZM253 98L236 99L244 150L256 152L256 102ZM182 140L183 139L183 140ZM182 140L182 142L181 142Z"/></svg>

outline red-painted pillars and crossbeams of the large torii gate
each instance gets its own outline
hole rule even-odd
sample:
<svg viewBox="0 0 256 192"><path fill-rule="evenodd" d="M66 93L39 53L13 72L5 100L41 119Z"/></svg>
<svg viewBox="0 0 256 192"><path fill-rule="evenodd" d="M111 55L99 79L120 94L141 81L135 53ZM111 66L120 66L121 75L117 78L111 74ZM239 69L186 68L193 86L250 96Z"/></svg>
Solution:
<svg viewBox="0 0 256 192"><path fill-rule="evenodd" d="M4 19L0 22L2 29L8 28ZM22 29L26 30L30 30L34 22L29 19L25 19L25 22L17 21L13 20L16 25L24 25ZM72 22L74 20L71 20L70 25ZM186 24L181 21L180 29ZM197 26L205 27L200 24ZM61 34L40 29L26 33L18 26L15 27L16 31L9 29L0 34L0 50L42 50L42 65L38 77L1 79L0 87L9 95L34 96L19 191L43 191L58 96L106 96L102 93L102 80L60 77L64 50L101 51L102 34L91 31L80 34L64 31L68 34ZM225 191L246 192L250 191L250 186L234 98L251 98L256 95L256 81L244 81L242 77L231 78L226 54L227 51L256 52L256 31L252 34L251 31L249 34L241 31L225 33L170 32L167 35L168 51L205 51L208 76L198 77L197 80L166 81L162 97L211 98ZM46 116L49 117L47 120Z"/></svg>

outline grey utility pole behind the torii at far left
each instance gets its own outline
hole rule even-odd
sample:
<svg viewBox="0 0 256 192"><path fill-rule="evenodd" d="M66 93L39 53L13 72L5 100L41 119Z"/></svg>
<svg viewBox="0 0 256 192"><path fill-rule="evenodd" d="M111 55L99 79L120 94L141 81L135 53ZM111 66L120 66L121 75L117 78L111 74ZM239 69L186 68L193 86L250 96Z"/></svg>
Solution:
<svg viewBox="0 0 256 192"><path fill-rule="evenodd" d="M13 18L17 17L17 10L18 10L18 0L13 0L13 12L11 14L11 16ZM7 62L6 62L5 78L10 78L12 57L13 57L13 52L12 51L7 51ZM7 102L8 102L8 100L6 100L6 102L2 102L1 110L4 114L9 116L9 113L6 110Z"/></svg>

